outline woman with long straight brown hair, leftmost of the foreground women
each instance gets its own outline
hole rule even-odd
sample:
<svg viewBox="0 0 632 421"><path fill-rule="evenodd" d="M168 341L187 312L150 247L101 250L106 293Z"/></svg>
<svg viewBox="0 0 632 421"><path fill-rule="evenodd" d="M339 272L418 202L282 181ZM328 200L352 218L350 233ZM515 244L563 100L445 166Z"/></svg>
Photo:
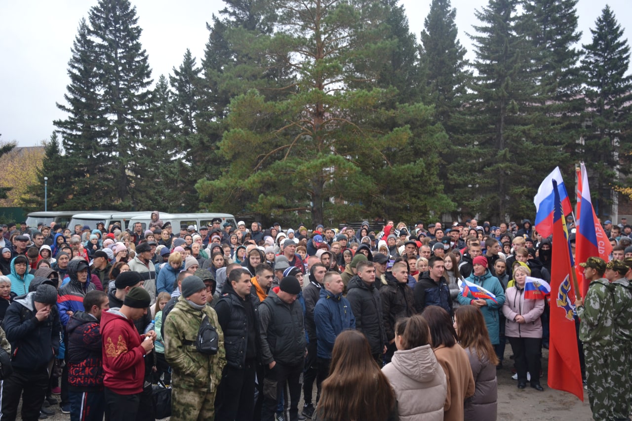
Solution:
<svg viewBox="0 0 632 421"><path fill-rule="evenodd" d="M395 393L371 355L366 336L358 331L339 334L312 420L394 421L398 419L396 404Z"/></svg>

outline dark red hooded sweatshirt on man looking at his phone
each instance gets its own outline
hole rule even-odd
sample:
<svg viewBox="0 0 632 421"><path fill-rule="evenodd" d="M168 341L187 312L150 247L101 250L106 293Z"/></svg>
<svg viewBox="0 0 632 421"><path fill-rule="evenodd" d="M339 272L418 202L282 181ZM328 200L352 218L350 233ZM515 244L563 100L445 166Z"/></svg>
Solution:
<svg viewBox="0 0 632 421"><path fill-rule="evenodd" d="M103 385L114 393L136 394L143 391L145 379L145 350L140 346L142 337L132 320L118 308L101 315L103 337Z"/></svg>

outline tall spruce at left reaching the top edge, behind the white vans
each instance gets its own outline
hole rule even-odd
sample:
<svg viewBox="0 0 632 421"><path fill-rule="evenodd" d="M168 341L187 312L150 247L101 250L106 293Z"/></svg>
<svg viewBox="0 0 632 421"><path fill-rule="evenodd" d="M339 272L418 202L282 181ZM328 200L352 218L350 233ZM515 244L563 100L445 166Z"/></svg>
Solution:
<svg viewBox="0 0 632 421"><path fill-rule="evenodd" d="M140 43L136 8L128 0L100 0L89 13L88 34L94 40L101 109L107 117L101 166L109 182L111 202L125 209L149 207L147 181L152 162L143 142L147 136L151 70ZM133 194L132 194L133 190Z"/></svg>

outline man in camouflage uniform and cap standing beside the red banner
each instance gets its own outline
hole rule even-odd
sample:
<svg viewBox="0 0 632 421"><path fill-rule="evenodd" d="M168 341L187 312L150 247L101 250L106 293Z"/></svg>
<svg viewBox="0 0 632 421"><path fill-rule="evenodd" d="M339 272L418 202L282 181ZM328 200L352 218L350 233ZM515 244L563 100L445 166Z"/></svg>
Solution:
<svg viewBox="0 0 632 421"><path fill-rule="evenodd" d="M575 300L581 319L580 340L584 344L590 410L594 420L609 420L613 405L612 393L615 392L610 372L614 334L612 287L603 278L606 270L604 260L589 257L580 266L584 268L584 278L590 280L585 298Z"/></svg>

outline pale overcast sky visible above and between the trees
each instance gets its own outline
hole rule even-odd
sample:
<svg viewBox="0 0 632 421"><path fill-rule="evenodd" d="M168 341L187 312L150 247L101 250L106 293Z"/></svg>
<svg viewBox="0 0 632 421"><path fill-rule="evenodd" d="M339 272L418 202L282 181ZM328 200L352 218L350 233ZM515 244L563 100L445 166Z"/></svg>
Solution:
<svg viewBox="0 0 632 421"><path fill-rule="evenodd" d="M152 78L171 73L189 48L197 63L204 54L209 33L206 23L224 8L221 0L131 0L137 8L141 41L149 54ZM78 23L87 18L97 0L9 1L0 0L0 140L32 146L50 137L53 119L64 118L55 106L64 102L70 49ZM419 38L430 0L402 0L410 29ZM465 32L480 25L474 10L485 0L452 0L461 44L474 58ZM605 6L602 0L579 0L577 12L581 43L590 42L590 28ZM629 39L626 20L632 16L631 0L607 2ZM177 5L177 6L176 6ZM175 7L174 7L175 6ZM628 42L629 43L629 42Z"/></svg>

